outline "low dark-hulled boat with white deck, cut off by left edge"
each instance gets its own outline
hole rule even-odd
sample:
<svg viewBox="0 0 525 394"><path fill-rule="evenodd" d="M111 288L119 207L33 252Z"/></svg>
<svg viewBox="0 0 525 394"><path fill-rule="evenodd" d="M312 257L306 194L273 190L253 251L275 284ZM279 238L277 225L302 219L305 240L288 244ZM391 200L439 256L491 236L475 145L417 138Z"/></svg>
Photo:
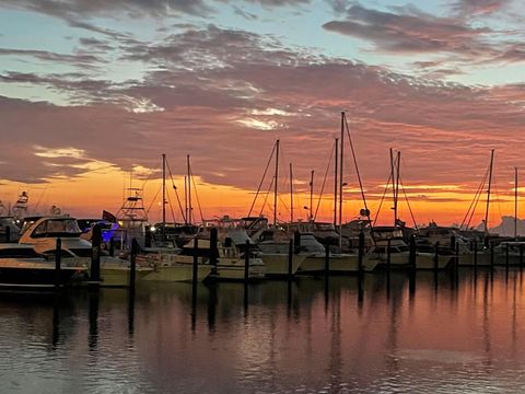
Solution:
<svg viewBox="0 0 525 394"><path fill-rule="evenodd" d="M68 286L84 280L86 267L62 259L58 285ZM0 288L54 289L57 286L55 260L35 252L31 245L0 244Z"/></svg>

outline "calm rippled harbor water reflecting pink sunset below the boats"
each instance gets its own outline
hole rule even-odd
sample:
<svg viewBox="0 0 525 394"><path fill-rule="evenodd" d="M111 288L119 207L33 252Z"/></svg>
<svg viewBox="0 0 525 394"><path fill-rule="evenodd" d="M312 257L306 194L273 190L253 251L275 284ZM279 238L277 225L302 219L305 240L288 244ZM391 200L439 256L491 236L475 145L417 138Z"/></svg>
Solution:
<svg viewBox="0 0 525 394"><path fill-rule="evenodd" d="M0 392L524 392L524 275L0 294Z"/></svg>

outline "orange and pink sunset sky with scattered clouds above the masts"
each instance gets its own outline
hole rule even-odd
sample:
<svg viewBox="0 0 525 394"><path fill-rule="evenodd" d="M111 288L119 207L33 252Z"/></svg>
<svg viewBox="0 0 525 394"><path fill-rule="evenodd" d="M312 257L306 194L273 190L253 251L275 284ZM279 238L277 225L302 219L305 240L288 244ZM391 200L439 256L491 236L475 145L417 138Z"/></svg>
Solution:
<svg viewBox="0 0 525 394"><path fill-rule="evenodd" d="M245 216L279 139L279 220L291 163L294 218L314 171L313 210L330 221L345 111L378 222L393 221L390 148L409 224L410 210L460 223L494 149L495 225L525 169L524 22L520 0L0 0L0 199L27 190L34 212L92 217L131 185L155 221L165 153L182 220L173 185L184 205L189 154L196 219ZM364 204L345 138L347 221ZM271 187L267 175L253 215L272 216Z"/></svg>

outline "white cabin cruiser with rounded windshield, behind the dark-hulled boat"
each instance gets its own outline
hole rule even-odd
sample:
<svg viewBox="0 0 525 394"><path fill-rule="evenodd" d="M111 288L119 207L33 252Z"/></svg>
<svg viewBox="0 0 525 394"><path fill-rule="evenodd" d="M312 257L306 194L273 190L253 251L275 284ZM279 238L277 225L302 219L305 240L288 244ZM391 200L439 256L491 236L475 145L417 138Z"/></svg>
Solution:
<svg viewBox="0 0 525 394"><path fill-rule="evenodd" d="M68 264L91 267L93 246L80 237L81 231L74 218L69 216L42 217L27 227L19 243L33 245L37 253L46 256L56 254L57 239L61 240L61 250L68 252L62 259ZM122 287L129 285L130 262L101 255L101 285ZM148 267L137 267L136 280L152 271Z"/></svg>

